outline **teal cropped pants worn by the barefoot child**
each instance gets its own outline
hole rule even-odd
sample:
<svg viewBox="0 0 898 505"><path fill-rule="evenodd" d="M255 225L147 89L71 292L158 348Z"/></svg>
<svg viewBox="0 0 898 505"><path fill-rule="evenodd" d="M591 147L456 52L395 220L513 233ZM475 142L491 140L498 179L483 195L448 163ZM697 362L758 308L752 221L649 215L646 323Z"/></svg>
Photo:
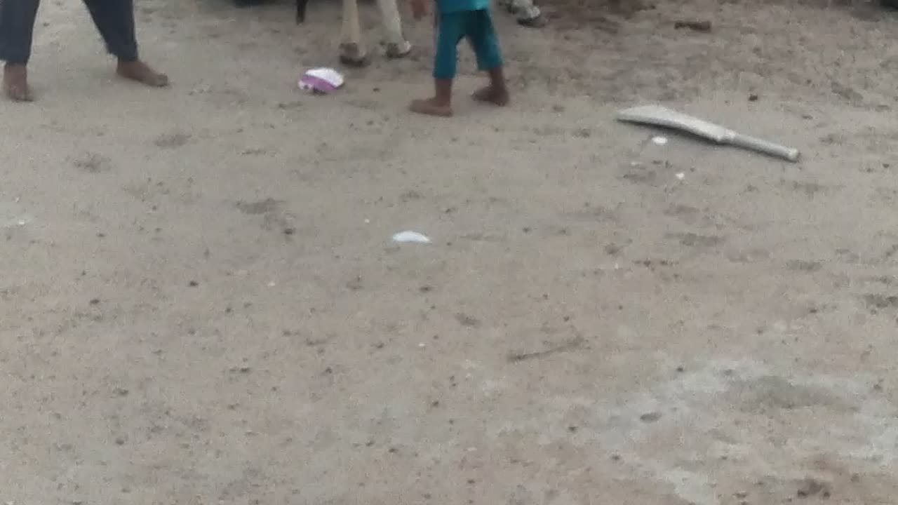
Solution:
<svg viewBox="0 0 898 505"><path fill-rule="evenodd" d="M436 22L436 57L434 78L452 79L458 62L458 43L471 42L477 67L492 70L502 66L502 54L489 9L438 14Z"/></svg>

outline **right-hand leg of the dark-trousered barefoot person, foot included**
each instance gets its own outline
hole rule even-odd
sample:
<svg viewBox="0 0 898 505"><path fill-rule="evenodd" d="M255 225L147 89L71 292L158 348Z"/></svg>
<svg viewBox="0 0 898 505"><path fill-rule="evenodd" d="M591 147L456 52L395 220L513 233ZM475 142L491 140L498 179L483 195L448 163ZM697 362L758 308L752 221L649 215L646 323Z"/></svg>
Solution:
<svg viewBox="0 0 898 505"><path fill-rule="evenodd" d="M134 0L84 0L84 4L106 43L106 49L119 59L119 75L149 86L168 85L168 76L154 71L137 54Z"/></svg>

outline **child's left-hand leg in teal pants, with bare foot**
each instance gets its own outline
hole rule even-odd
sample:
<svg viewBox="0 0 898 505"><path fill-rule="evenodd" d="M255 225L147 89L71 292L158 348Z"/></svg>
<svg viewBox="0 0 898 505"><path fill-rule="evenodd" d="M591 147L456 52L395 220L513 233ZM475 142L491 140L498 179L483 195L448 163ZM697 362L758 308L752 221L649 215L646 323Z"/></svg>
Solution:
<svg viewBox="0 0 898 505"><path fill-rule="evenodd" d="M463 14L439 14L439 21L436 22L434 97L411 102L411 111L431 116L452 115L452 83L458 60L458 42L464 34Z"/></svg>

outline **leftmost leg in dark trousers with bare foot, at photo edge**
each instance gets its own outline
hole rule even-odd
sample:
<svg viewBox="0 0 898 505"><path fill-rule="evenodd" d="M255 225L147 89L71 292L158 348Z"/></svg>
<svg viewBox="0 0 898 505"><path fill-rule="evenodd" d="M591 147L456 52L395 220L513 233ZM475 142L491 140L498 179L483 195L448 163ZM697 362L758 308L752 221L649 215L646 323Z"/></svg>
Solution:
<svg viewBox="0 0 898 505"><path fill-rule="evenodd" d="M9 98L31 101L28 60L39 0L0 0L0 60L4 60L3 87Z"/></svg>

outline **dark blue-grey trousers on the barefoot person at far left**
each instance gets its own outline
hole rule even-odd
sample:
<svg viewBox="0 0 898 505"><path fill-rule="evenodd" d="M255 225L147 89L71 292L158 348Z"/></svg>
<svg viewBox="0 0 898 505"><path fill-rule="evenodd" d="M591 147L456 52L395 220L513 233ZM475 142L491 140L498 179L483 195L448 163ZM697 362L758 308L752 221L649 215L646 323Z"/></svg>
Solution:
<svg viewBox="0 0 898 505"><path fill-rule="evenodd" d="M25 65L40 0L0 0L0 60ZM136 61L134 0L84 0L106 49L123 61Z"/></svg>

